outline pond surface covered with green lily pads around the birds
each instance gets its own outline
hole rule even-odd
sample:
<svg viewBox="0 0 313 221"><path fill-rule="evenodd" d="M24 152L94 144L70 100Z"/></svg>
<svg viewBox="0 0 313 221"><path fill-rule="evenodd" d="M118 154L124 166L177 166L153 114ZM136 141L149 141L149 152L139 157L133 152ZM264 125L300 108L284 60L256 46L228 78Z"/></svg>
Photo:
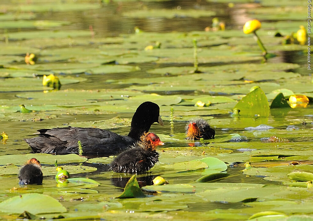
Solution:
<svg viewBox="0 0 313 221"><path fill-rule="evenodd" d="M34 219L247 220L267 211L251 220L313 219L313 188L307 183L313 180L312 76L306 43L290 37L300 25L307 27L305 17L300 0L2 0L0 132L8 139L0 140L0 218L28 211ZM219 21L212 24L213 18ZM266 62L253 34L242 31L251 19L261 21L257 34L276 55ZM156 42L160 48L153 48ZM145 50L148 45L153 49ZM37 56L34 65L25 64L26 53ZM200 73L194 71L195 57ZM59 77L60 90L42 86L49 74ZM260 89L251 92L254 86ZM309 103L269 109L279 92L281 102L305 95ZM110 171L112 157L27 155L31 148L23 139L42 128L98 127L128 134L133 113L148 100L160 106L165 123L150 130L166 145L157 149L160 162L137 175L145 198L116 198L132 175ZM199 107L197 101L211 104ZM31 112L21 113L21 104ZM240 116L231 116L235 106ZM195 145L186 139L185 126L198 117L216 135ZM273 129L245 129L260 124ZM230 141L237 136L248 141ZM261 140L273 136L274 142ZM43 185L20 187L19 167L32 157L43 165ZM201 159L206 168L192 161ZM57 184L55 160L71 177L100 185ZM210 174L208 182L198 180ZM156 176L169 184L152 186ZM15 196L29 193L41 194L13 201L18 206L10 208ZM35 203L43 195L50 197L49 205Z"/></svg>

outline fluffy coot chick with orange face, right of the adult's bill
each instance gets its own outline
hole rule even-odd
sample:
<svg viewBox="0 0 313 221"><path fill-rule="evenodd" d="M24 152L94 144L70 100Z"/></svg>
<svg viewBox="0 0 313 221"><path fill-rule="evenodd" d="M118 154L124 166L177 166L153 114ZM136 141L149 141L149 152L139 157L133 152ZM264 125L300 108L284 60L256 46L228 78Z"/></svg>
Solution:
<svg viewBox="0 0 313 221"><path fill-rule="evenodd" d="M186 125L186 136L190 140L214 139L215 130L204 119L198 118Z"/></svg>

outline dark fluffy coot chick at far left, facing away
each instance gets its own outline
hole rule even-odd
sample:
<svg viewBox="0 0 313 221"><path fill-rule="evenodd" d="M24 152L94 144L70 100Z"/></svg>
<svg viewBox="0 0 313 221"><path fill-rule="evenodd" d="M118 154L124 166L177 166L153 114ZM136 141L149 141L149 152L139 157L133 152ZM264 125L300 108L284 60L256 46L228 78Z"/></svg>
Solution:
<svg viewBox="0 0 313 221"><path fill-rule="evenodd" d="M21 167L18 179L20 185L42 184L43 174L40 162L35 158L28 160L27 163Z"/></svg>

